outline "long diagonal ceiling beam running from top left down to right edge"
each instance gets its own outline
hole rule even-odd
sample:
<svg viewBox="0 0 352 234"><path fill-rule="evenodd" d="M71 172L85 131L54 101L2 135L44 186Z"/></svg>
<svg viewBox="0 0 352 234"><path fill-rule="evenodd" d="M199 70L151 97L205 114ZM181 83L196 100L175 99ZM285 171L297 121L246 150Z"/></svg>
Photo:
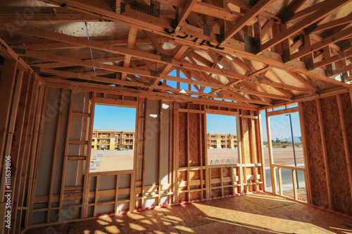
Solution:
<svg viewBox="0 0 352 234"><path fill-rule="evenodd" d="M172 37L175 39L175 42L187 46L192 46L192 47L197 47L201 48L202 46L202 41L201 39L208 39L210 40L210 43L216 43L215 37L204 37L203 32L201 29L197 27L193 27L191 25L184 25L182 27L182 30L180 32L175 32L175 33L168 33L171 32L170 30L171 27L165 21L159 20L158 18L148 16L143 13L137 13L138 17L137 18L131 18L129 17L130 14L136 14L135 11L130 11L130 9L126 9L124 14L115 14L111 13L111 11L107 11L105 9L96 7L96 6L90 6L82 2L77 2L73 0L49 0L50 4L56 4L58 6L61 6L61 4L66 4L66 8L73 9L75 11L80 11L84 13L89 13L89 14L99 14L99 16L107 19L107 20L113 20L116 22L120 23L125 23L127 25L138 25L140 27L144 27L144 30L148 30L151 32L155 32L161 35L166 35L168 37ZM73 4L75 4L75 7L73 8ZM152 23L151 23L152 22ZM22 31L23 28L21 28ZM168 30L168 32L165 34L165 30ZM194 40L194 37L186 37L184 38L184 35L187 35L187 32L192 32L192 34L196 37L199 38L198 41L192 42ZM213 34L214 35L214 34ZM180 37L177 37L180 36ZM222 48L221 48L222 49ZM221 51L220 48L215 48L217 51ZM304 63L288 63L284 64L282 63L281 55L273 53L271 51L265 51L261 53L260 55L254 55L251 52L247 52L244 50L244 44L237 42L235 40L231 39L231 43L227 43L223 47L223 51L226 51L229 54L236 54L238 56L246 56L247 58L252 59L253 61L260 61L263 63L266 63L270 66L273 66L275 68L280 68L282 70L296 70L296 72L303 73L305 75L308 75L312 78L316 78L319 80L324 80L325 82L332 82L335 85L341 85L344 87L351 87L351 85L345 84L344 82L339 82L337 80L332 80L327 78L327 76L323 73L313 73L310 72L306 69L306 66Z"/></svg>

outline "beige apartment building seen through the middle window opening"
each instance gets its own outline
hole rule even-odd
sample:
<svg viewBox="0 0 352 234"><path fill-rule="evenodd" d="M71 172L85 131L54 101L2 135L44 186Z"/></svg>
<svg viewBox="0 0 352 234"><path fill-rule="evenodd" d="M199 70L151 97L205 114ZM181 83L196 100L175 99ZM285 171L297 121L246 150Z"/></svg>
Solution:
<svg viewBox="0 0 352 234"><path fill-rule="evenodd" d="M227 149L237 147L237 135L226 133L208 133L208 149Z"/></svg>

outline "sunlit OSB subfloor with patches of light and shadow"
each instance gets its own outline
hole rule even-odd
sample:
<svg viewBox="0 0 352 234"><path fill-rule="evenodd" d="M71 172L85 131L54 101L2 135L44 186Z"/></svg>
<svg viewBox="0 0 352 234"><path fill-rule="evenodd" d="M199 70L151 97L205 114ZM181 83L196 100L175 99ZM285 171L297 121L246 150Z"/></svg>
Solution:
<svg viewBox="0 0 352 234"><path fill-rule="evenodd" d="M100 216L27 233L352 233L352 219L262 193Z"/></svg>

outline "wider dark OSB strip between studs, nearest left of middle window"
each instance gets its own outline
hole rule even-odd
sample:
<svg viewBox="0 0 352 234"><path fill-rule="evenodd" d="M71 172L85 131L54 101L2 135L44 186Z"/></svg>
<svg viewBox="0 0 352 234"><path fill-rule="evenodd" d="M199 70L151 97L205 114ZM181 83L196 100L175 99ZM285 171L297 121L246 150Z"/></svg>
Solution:
<svg viewBox="0 0 352 234"><path fill-rule="evenodd" d="M200 166L199 113L189 113L189 166Z"/></svg>

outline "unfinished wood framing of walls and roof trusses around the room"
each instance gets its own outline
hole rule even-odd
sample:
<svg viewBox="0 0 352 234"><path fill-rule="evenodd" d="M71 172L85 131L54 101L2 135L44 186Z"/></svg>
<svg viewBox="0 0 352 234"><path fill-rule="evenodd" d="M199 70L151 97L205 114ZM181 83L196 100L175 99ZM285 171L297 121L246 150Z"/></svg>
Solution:
<svg viewBox="0 0 352 234"><path fill-rule="evenodd" d="M0 232L270 192L270 183L290 202L352 214L351 4L4 1L0 215L11 188L12 227ZM96 105L136 110L132 168L91 170ZM270 119L296 112L304 166L278 164ZM208 160L207 114L236 117L227 123L237 127L236 163Z"/></svg>

